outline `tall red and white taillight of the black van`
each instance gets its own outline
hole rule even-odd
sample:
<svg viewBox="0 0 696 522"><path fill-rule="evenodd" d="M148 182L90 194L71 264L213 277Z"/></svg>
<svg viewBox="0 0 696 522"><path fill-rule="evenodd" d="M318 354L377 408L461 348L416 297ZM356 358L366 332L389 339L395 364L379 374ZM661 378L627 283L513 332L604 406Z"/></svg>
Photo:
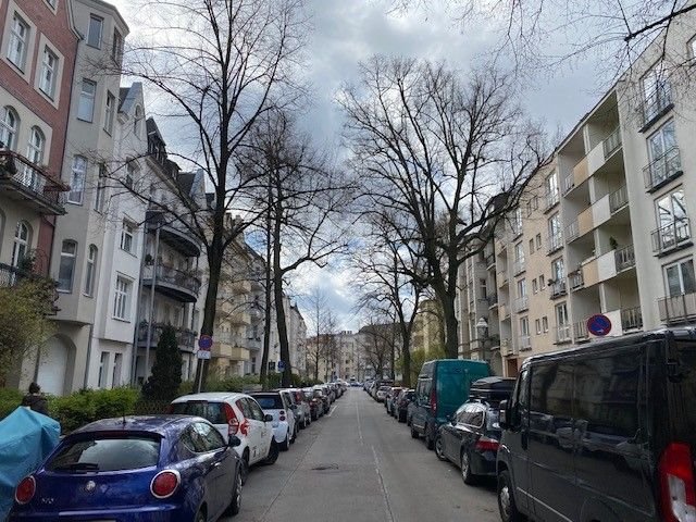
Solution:
<svg viewBox="0 0 696 522"><path fill-rule="evenodd" d="M671 443L660 459L660 504L666 522L696 520L696 484L692 450L687 444Z"/></svg>

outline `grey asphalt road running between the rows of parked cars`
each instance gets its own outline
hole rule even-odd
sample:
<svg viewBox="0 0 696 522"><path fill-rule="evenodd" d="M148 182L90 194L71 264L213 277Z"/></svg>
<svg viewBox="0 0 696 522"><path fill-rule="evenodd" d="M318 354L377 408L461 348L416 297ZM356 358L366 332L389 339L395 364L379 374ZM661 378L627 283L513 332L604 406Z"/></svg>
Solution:
<svg viewBox="0 0 696 522"><path fill-rule="evenodd" d="M467 486L362 388L252 469L234 522L498 522L492 483Z"/></svg>

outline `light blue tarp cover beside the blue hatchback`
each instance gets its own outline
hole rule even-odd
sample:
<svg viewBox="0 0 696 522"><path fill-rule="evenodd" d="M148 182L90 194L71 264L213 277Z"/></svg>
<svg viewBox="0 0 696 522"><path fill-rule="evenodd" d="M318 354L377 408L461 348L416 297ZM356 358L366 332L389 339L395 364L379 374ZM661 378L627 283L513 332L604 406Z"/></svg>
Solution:
<svg viewBox="0 0 696 522"><path fill-rule="evenodd" d="M28 408L0 421L0 520L10 513L16 485L44 462L60 435L57 421Z"/></svg>

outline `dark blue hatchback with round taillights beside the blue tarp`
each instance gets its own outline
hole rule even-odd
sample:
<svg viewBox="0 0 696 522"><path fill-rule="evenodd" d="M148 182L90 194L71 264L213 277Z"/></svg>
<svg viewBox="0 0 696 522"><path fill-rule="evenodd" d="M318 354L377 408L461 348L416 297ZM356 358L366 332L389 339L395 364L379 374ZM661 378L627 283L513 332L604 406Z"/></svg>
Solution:
<svg viewBox="0 0 696 522"><path fill-rule="evenodd" d="M236 514L240 459L204 419L126 417L66 436L15 490L11 521L206 522Z"/></svg>

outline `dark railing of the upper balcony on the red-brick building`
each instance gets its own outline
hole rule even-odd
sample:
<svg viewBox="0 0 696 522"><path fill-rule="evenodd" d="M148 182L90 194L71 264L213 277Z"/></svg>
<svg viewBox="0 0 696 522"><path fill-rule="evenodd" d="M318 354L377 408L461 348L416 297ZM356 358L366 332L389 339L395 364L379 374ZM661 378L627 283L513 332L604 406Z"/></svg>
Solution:
<svg viewBox="0 0 696 522"><path fill-rule="evenodd" d="M34 198L63 212L69 187L50 177L41 167L22 154L11 150L0 150L0 182L2 181L11 182Z"/></svg>

